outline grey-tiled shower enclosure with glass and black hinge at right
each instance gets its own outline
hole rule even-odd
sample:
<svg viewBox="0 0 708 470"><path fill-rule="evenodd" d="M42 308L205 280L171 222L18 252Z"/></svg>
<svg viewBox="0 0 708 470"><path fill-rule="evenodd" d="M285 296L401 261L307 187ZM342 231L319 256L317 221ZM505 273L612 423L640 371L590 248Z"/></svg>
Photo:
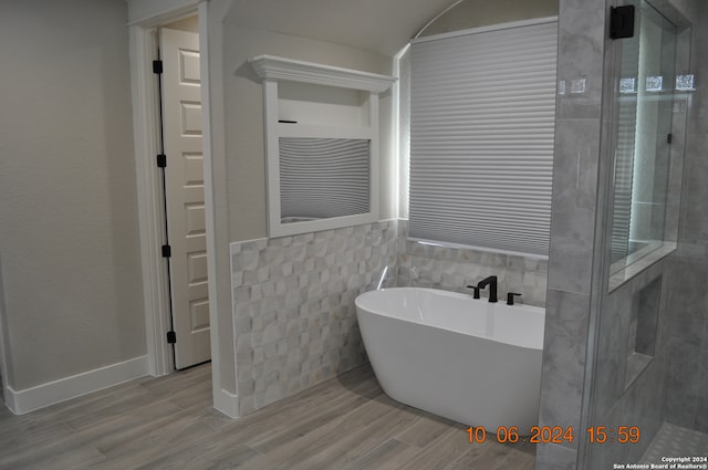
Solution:
<svg viewBox="0 0 708 470"><path fill-rule="evenodd" d="M708 96L696 86L707 35L696 28L706 20L699 3L621 1L635 9L635 34L606 51L614 83L603 118L614 125L602 139L613 163L610 210L597 221L606 241L594 268L602 292L590 316L577 468L665 463L662 457L708 449L708 122L698 106Z"/></svg>

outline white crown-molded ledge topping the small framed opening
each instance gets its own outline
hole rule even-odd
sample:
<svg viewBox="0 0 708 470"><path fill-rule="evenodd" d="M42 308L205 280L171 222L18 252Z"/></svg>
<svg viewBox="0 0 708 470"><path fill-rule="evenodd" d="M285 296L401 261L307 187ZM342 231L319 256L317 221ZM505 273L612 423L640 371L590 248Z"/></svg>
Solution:
<svg viewBox="0 0 708 470"><path fill-rule="evenodd" d="M342 88L382 93L396 81L388 75L296 61L274 55L257 55L249 63L261 79L289 80Z"/></svg>

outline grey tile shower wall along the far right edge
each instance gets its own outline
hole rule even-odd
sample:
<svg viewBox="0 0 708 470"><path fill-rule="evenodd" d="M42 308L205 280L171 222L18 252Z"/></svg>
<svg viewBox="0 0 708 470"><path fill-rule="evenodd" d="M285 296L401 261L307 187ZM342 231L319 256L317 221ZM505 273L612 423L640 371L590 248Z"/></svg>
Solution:
<svg viewBox="0 0 708 470"><path fill-rule="evenodd" d="M678 3L695 20L688 71L697 81L705 81L708 31L702 25L708 21L708 4L690 0ZM671 270L674 316L666 406L667 421L708 432L708 92L697 86L688 104L678 250Z"/></svg>

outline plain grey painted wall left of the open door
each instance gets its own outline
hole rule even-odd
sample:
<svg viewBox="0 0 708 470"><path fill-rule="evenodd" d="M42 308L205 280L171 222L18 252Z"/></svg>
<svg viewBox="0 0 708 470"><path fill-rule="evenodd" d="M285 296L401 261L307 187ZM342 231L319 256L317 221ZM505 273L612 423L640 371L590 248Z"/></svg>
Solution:
<svg viewBox="0 0 708 470"><path fill-rule="evenodd" d="M0 269L14 390L146 353L127 6L0 4Z"/></svg>

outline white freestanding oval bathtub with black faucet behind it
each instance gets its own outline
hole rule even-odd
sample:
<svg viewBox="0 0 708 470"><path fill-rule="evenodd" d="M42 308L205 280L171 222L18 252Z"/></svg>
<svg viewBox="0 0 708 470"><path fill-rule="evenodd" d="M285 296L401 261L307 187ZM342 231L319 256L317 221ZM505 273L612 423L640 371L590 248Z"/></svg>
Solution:
<svg viewBox="0 0 708 470"><path fill-rule="evenodd" d="M394 288L357 296L356 315L393 399L490 432L538 426L544 309Z"/></svg>

